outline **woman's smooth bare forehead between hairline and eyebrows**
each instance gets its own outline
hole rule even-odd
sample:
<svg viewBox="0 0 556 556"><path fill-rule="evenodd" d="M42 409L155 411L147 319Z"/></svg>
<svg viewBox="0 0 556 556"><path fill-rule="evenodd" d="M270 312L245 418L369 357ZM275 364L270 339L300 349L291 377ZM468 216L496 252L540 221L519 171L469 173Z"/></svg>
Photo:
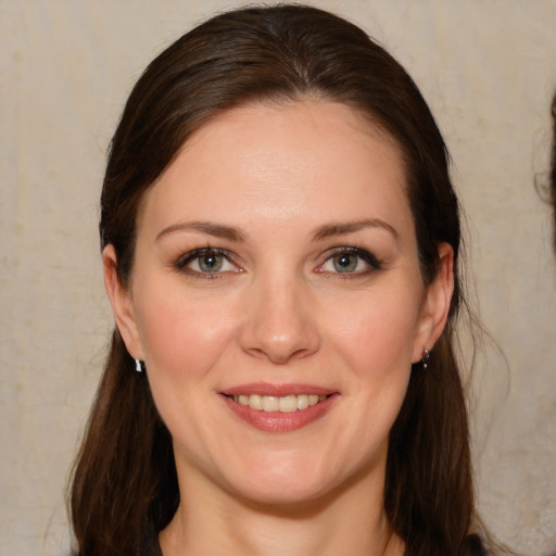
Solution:
<svg viewBox="0 0 556 556"><path fill-rule="evenodd" d="M198 129L142 211L155 208L164 220L237 214L268 222L390 216L400 224L410 219L405 181L394 140L345 104L250 104Z"/></svg>

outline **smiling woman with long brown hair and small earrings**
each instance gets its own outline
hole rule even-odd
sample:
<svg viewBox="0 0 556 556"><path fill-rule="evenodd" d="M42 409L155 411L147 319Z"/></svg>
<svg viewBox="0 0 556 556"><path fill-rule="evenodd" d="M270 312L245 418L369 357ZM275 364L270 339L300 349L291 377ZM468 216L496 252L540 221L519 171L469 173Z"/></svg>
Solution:
<svg viewBox="0 0 556 556"><path fill-rule="evenodd" d="M359 28L286 5L178 39L126 104L100 233L79 554L482 553L447 152Z"/></svg>

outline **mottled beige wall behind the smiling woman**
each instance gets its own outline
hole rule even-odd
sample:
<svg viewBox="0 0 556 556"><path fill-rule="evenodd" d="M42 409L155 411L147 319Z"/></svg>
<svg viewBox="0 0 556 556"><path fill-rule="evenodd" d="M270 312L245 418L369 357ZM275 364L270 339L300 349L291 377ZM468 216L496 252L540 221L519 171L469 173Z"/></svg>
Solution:
<svg viewBox="0 0 556 556"><path fill-rule="evenodd" d="M240 2L0 0L0 554L62 555L63 489L112 319L97 241L105 150L134 80ZM556 549L556 257L548 166L554 0L312 1L382 41L430 101L469 219L492 346L476 375L486 522ZM541 176L542 178L542 176Z"/></svg>

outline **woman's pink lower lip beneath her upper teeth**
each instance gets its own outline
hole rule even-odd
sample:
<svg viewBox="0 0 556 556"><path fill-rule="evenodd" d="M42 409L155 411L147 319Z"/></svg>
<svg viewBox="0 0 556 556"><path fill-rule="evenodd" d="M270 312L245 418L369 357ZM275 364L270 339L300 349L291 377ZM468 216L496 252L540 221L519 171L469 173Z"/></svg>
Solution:
<svg viewBox="0 0 556 556"><path fill-rule="evenodd" d="M296 412L263 412L261 409L252 409L249 405L241 405L223 395L228 407L242 420L254 427L255 429L266 432L292 432L302 429L312 422L324 417L332 407L338 394L329 395L323 402L311 405L306 409L298 409Z"/></svg>

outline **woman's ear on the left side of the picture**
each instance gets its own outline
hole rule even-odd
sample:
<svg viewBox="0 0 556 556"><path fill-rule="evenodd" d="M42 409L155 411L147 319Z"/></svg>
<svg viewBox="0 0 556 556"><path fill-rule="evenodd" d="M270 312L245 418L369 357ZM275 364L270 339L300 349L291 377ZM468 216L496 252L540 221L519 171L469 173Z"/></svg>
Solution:
<svg viewBox="0 0 556 556"><path fill-rule="evenodd" d="M102 266L104 268L104 287L110 298L112 313L114 314L119 334L126 344L129 355L143 359L134 300L129 288L125 287L119 279L114 245L109 244L102 251Z"/></svg>

